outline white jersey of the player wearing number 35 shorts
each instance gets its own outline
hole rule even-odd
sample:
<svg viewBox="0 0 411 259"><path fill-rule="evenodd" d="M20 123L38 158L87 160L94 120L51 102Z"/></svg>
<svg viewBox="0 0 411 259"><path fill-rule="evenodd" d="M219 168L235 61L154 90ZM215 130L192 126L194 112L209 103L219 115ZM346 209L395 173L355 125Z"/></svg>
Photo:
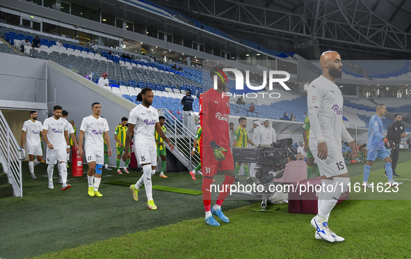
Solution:
<svg viewBox="0 0 411 259"><path fill-rule="evenodd" d="M136 127L134 127L134 143L140 140L155 142L155 125L158 122L159 113L154 107L150 106L146 108L143 104L138 104L132 109L130 111L129 123L136 125Z"/></svg>

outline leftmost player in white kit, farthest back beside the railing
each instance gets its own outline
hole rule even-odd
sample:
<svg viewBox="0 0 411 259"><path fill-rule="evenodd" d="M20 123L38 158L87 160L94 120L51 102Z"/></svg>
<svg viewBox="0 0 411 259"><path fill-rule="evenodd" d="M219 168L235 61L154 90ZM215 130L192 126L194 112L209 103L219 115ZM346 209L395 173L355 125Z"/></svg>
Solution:
<svg viewBox="0 0 411 259"><path fill-rule="evenodd" d="M30 111L30 120L23 124L21 148L24 148L24 139L27 136L27 154L29 154L29 170L31 178L35 179L34 166L40 164L43 159L43 150L41 146L40 132L42 132L42 123L37 120L37 111ZM35 161L34 161L35 156Z"/></svg>

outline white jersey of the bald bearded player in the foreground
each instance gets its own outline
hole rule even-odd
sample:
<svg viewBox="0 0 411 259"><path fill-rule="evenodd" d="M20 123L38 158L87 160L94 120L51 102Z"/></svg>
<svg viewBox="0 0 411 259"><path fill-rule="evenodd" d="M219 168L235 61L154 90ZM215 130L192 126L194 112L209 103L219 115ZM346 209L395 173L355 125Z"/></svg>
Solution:
<svg viewBox="0 0 411 259"><path fill-rule="evenodd" d="M307 88L307 108L319 107L318 118L328 149L341 150L344 98L339 87L322 75ZM309 146L316 150L316 136L309 131ZM315 148L314 148L315 147Z"/></svg>

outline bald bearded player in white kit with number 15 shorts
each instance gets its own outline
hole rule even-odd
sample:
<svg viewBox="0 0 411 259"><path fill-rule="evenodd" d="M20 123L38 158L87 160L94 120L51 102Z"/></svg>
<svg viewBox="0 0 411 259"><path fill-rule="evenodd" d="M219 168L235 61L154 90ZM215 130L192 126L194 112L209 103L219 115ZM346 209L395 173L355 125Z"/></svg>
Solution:
<svg viewBox="0 0 411 259"><path fill-rule="evenodd" d="M328 227L328 217L339 196L348 190L350 176L341 153L341 136L349 142L353 157L358 153L357 144L344 126L343 96L335 84L341 78L342 63L337 52L324 52L320 58L323 74L307 88L307 107L311 128L309 148L321 173L318 214L311 220L316 229L315 237L328 242L344 241Z"/></svg>

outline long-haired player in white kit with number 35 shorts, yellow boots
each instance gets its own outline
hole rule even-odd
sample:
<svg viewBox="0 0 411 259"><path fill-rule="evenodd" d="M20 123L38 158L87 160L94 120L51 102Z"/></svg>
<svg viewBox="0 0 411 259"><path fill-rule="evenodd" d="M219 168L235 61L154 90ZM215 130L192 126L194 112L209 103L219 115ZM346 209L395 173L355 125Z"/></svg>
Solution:
<svg viewBox="0 0 411 259"><path fill-rule="evenodd" d="M138 163L143 166L143 175L141 175L140 180L136 182L136 185L130 186L130 189L133 191L134 200L138 201L138 189L144 184L145 194L147 195L147 207L150 210L157 210L152 196L152 175L156 173L157 165L154 130L159 134L161 139L166 141L171 151L174 150L174 146L167 139L163 130L161 130L157 109L150 106L153 102L153 97L154 94L150 87L143 88L137 95L137 100L142 103L130 111L129 128L127 130L122 159L126 161L131 157L129 147L134 132L134 153L136 154ZM136 127L136 129L134 129L134 127Z"/></svg>

